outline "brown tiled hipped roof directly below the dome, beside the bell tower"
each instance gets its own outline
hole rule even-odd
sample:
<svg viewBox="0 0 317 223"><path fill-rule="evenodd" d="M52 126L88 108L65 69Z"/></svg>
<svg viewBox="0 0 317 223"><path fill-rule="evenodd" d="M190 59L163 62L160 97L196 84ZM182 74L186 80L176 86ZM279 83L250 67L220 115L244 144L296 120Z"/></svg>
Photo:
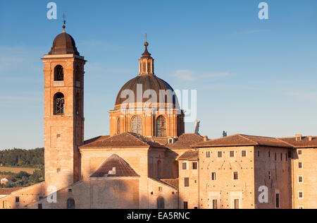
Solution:
<svg viewBox="0 0 317 223"><path fill-rule="evenodd" d="M113 137L99 138L98 140L80 146L81 149L93 147L156 147L166 148L159 143L155 143L142 135L135 133L122 133Z"/></svg>

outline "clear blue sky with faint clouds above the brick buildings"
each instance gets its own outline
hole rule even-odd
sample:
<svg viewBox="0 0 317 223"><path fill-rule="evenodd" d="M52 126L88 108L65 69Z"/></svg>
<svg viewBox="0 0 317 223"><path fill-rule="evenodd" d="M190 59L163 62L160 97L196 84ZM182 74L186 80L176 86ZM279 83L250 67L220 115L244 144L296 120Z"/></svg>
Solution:
<svg viewBox="0 0 317 223"><path fill-rule="evenodd" d="M87 59L85 138L109 133L108 110L137 75L147 33L156 75L197 90L201 135L317 135L317 1L0 3L0 148L44 145L43 64L62 28ZM194 123L186 124L193 132Z"/></svg>

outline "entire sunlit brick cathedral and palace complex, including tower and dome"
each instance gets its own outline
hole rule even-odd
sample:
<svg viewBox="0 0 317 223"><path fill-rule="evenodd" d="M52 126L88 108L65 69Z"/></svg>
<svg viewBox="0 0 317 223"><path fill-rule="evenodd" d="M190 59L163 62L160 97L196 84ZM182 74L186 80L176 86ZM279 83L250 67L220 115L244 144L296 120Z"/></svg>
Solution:
<svg viewBox="0 0 317 223"><path fill-rule="evenodd" d="M0 196L0 209L317 207L317 137L185 133L185 111L144 47L113 99L110 135L84 140L86 61L64 26L42 58L45 181Z"/></svg>

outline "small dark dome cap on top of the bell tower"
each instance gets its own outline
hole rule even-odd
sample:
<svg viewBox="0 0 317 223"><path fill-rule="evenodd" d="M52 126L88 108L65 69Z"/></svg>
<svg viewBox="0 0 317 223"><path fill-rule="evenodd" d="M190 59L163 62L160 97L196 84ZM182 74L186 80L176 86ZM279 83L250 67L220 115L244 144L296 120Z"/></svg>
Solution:
<svg viewBox="0 0 317 223"><path fill-rule="evenodd" d="M51 47L51 52L49 52L49 55L58 54L79 55L79 52L76 48L75 40L68 33L66 33L65 30L55 38L53 42L53 47Z"/></svg>

